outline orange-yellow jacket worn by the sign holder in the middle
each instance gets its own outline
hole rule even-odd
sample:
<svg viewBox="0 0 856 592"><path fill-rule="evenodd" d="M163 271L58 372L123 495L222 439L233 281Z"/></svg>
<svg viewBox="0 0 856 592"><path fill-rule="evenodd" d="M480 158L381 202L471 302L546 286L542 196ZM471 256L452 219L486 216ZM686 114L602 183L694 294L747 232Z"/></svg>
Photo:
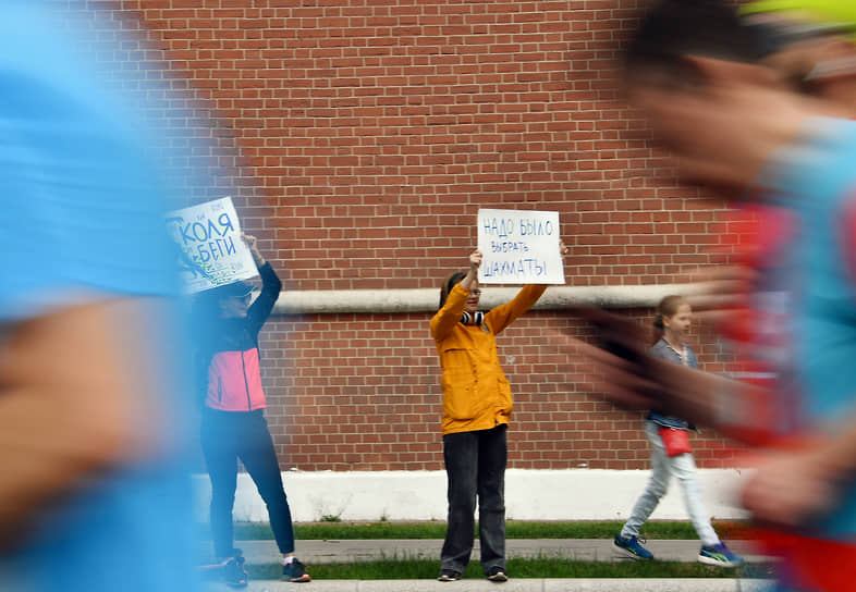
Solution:
<svg viewBox="0 0 856 592"><path fill-rule="evenodd" d="M461 284L431 319L431 336L443 368L443 434L490 430L509 423L511 386L497 354L496 335L541 297L546 285L526 285L510 303L485 314L481 325L464 324L469 291Z"/></svg>

